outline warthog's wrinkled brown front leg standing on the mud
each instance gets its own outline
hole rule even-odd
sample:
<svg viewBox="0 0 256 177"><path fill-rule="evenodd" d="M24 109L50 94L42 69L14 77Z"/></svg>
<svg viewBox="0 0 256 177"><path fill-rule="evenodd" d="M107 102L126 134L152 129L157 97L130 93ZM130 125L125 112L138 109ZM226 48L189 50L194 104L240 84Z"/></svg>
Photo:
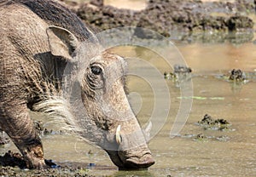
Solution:
<svg viewBox="0 0 256 177"><path fill-rule="evenodd" d="M28 115L26 103L1 103L0 127L18 147L27 162L27 168L46 168L44 151L34 124Z"/></svg>

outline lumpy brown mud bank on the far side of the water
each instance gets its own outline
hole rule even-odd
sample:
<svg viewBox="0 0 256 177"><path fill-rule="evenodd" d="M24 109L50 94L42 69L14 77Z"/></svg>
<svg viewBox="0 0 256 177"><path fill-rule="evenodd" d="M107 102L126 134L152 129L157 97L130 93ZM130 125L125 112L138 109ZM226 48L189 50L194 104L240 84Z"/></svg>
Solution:
<svg viewBox="0 0 256 177"><path fill-rule="evenodd" d="M78 7L78 6L77 6ZM145 9L118 9L102 0L80 4L74 9L95 31L114 27L137 26L158 31L169 37L171 31L250 31L253 1L202 2L200 0L150 0Z"/></svg>

